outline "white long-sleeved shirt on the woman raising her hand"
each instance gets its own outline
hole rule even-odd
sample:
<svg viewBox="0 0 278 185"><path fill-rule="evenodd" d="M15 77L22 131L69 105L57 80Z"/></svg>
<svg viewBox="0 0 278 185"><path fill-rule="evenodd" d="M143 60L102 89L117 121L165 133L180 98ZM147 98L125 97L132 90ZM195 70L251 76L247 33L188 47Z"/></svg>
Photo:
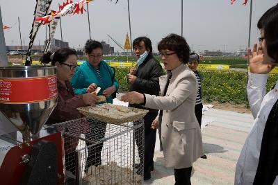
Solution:
<svg viewBox="0 0 278 185"><path fill-rule="evenodd" d="M268 74L250 73L247 85L247 94L251 112L254 116L254 125L247 136L243 149L240 152L238 163L236 164L235 183L253 184L256 169L259 164L261 151L261 140L265 123L270 110L278 99L278 82L275 88L265 95L265 85ZM278 184L278 176L273 184Z"/></svg>

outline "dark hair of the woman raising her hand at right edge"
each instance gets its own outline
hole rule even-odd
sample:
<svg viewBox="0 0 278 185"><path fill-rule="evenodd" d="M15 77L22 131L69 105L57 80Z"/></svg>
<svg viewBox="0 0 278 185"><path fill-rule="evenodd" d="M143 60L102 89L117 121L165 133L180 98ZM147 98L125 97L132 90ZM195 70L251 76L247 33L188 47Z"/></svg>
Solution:
<svg viewBox="0 0 278 185"><path fill-rule="evenodd" d="M264 32L268 55L278 63L278 4L263 14L257 27Z"/></svg>

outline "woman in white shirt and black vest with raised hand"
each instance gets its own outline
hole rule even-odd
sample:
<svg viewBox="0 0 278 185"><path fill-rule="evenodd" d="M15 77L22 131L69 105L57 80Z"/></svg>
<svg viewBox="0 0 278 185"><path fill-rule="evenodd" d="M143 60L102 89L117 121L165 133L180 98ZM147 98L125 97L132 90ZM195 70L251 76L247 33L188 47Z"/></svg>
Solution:
<svg viewBox="0 0 278 185"><path fill-rule="evenodd" d="M236 164L235 184L278 184L278 82L266 94L268 73L278 64L278 4L259 19L260 46L250 51L247 85L254 125Z"/></svg>

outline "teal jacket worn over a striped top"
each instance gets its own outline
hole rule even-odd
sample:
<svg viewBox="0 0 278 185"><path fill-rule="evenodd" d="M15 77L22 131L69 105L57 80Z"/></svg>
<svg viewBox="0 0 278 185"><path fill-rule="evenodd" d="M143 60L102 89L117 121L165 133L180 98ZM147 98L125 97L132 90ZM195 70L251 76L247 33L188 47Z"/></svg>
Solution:
<svg viewBox="0 0 278 185"><path fill-rule="evenodd" d="M92 67L92 64L90 64L88 61L83 62L80 67L78 67L74 73L74 76L72 77L72 87L74 88L75 94L86 94L87 88L92 83L95 83L97 87L101 87L101 91L99 91L99 96L103 95L102 92L112 85L115 85L116 90L119 89L119 84L117 82L117 79L114 78L113 82L113 69L101 60L99 63L100 65L100 73L101 73L101 79L99 78L99 75L97 74L97 70ZM113 103L113 99L111 96L109 96L107 99L108 103Z"/></svg>

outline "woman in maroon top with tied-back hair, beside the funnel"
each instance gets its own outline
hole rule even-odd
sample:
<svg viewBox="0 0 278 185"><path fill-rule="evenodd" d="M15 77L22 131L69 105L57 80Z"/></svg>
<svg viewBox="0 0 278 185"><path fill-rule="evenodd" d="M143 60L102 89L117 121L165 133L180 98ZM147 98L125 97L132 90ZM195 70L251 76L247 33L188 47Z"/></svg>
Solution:
<svg viewBox="0 0 278 185"><path fill-rule="evenodd" d="M86 105L95 105L98 98L96 94L75 95L70 80L74 76L77 67L77 55L74 49L58 49L55 53L45 53L40 59L42 64L56 66L58 85L58 105L49 116L47 124L70 121L81 118L81 114L76 109Z"/></svg>

